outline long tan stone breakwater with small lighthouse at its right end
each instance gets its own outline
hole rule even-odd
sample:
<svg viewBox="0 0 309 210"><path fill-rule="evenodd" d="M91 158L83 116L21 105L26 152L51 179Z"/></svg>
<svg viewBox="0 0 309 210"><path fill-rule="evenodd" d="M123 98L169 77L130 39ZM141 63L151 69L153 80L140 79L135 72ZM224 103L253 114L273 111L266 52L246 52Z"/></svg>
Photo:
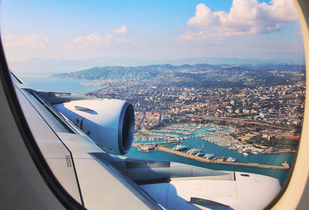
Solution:
<svg viewBox="0 0 309 210"><path fill-rule="evenodd" d="M186 158L191 158L194 160L198 160L201 162L205 162L205 163L215 163L215 164L226 164L226 165L236 165L236 166L248 166L248 167L259 167L259 168L272 168L272 169L283 169L283 170L288 170L290 169L290 164L289 163L282 163L282 166L271 166L271 165L260 165L260 164L256 164L256 163L236 163L236 162L226 162L226 161L218 161L218 160L208 160L205 158L201 158L201 157L197 157L194 155L190 155L190 154L185 154L179 151L174 151L171 149L167 149L164 148L162 146L157 146L155 147L156 150L161 150L164 152L168 152L168 153L172 153L172 154L176 154L176 155L180 155Z"/></svg>

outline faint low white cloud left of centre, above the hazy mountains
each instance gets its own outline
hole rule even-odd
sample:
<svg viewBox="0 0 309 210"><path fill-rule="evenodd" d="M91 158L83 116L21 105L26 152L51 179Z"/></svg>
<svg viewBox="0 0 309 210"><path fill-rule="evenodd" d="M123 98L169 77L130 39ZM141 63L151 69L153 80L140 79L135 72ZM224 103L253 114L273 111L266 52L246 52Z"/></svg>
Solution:
<svg viewBox="0 0 309 210"><path fill-rule="evenodd" d="M86 36L79 36L72 40L69 49L86 49L86 48L108 48L108 47L121 47L121 48L143 48L143 45L139 45L127 39L121 39L115 35L100 35L99 33L92 33Z"/></svg>

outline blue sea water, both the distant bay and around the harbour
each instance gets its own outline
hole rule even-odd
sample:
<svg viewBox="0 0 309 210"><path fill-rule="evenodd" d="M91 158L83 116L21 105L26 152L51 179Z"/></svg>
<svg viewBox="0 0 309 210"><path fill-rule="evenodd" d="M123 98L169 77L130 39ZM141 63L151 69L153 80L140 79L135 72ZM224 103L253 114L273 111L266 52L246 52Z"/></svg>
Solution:
<svg viewBox="0 0 309 210"><path fill-rule="evenodd" d="M89 91L95 91L97 89L102 89L105 86L86 86L80 83L92 83L91 80L77 80L77 79L66 79L50 77L48 74L36 74L36 73L19 73L18 76L24 80L33 89L40 89L52 92L65 92L65 93L85 93ZM202 127L193 132L190 139L182 140L182 145L188 146L190 148L199 148L203 153L215 154L219 157L225 156L226 158L232 157L236 158L236 162L239 163L259 163L265 165L281 166L282 163L289 163L292 165L294 163L295 154L292 152L286 153L276 153L276 154L251 154L244 155L239 154L237 151L227 149L222 146L218 146L212 142L202 139L201 137L196 137L197 134L207 132L210 127ZM178 134L185 136L183 134ZM162 142L162 139L156 140ZM155 142L156 142L155 141ZM141 141L142 142L142 141ZM145 143L150 143L148 140ZM203 146L202 146L203 145ZM168 146L167 148L172 148L176 145ZM125 156L142 158L142 159L154 159L154 160L164 160L170 162L178 162L189 165L194 165L198 167L209 168L213 170L224 170L224 171L240 171L247 173L256 173L261 175L267 175L285 182L291 170L280 170L280 169L269 169L269 168L258 168L258 167L246 167L246 166L234 166L234 165L223 165L223 164L212 164L204 163L197 160L185 158L178 156L176 154L171 154L163 152L161 150L153 150L149 152L139 151L137 147L132 146L129 153Z"/></svg>

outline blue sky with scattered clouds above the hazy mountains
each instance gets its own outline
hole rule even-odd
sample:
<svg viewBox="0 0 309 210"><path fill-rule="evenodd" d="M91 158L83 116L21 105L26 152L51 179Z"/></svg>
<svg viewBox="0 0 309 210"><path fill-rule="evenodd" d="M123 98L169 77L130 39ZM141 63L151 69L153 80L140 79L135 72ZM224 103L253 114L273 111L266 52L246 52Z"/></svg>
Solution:
<svg viewBox="0 0 309 210"><path fill-rule="evenodd" d="M8 60L304 57L292 0L0 3Z"/></svg>

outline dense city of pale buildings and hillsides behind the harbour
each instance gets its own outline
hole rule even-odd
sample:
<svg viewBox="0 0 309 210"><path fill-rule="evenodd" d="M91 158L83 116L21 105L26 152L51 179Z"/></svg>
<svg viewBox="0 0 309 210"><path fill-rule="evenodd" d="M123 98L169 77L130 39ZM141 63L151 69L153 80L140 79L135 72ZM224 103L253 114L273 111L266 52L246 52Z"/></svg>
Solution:
<svg viewBox="0 0 309 210"><path fill-rule="evenodd" d="M305 67L263 65L151 65L95 67L55 77L97 80L86 93L130 101L136 132L175 123L233 126L230 138L267 151L295 151L305 99Z"/></svg>

